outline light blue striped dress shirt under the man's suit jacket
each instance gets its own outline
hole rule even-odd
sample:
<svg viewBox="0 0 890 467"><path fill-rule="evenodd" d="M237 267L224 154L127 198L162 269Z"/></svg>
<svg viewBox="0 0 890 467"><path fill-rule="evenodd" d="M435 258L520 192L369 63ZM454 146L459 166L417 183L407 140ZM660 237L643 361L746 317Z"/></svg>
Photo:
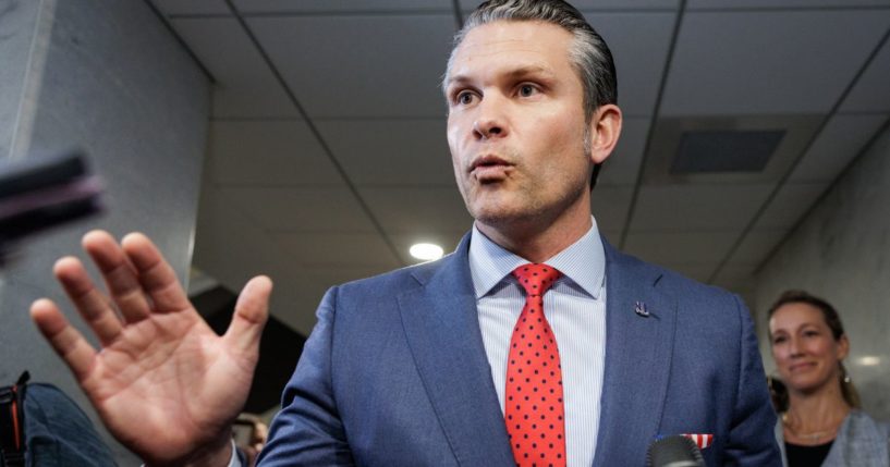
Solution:
<svg viewBox="0 0 890 467"><path fill-rule="evenodd" d="M557 336L562 365L569 467L594 463L599 429L606 361L606 254L595 219L593 223L581 239L545 261L563 274L544 295L544 314ZM473 228L470 271L501 411L510 339L525 305L525 292L511 272L526 262Z"/></svg>

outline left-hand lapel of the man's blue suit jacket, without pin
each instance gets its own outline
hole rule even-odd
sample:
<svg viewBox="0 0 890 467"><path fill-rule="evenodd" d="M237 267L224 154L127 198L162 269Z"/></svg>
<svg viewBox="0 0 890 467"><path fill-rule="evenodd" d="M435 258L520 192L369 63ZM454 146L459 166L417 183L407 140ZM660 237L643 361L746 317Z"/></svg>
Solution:
<svg viewBox="0 0 890 467"><path fill-rule="evenodd" d="M467 260L470 236L422 286L399 295L417 370L461 465L513 465L486 358Z"/></svg>

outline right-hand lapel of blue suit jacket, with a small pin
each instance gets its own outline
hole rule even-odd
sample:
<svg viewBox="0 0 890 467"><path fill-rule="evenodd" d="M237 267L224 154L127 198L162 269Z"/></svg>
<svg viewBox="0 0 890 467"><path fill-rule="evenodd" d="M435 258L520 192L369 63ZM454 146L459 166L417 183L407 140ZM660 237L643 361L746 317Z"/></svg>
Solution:
<svg viewBox="0 0 890 467"><path fill-rule="evenodd" d="M606 372L595 466L642 465L658 434L674 340L676 303L661 271L606 249ZM636 312L637 302L645 312Z"/></svg>

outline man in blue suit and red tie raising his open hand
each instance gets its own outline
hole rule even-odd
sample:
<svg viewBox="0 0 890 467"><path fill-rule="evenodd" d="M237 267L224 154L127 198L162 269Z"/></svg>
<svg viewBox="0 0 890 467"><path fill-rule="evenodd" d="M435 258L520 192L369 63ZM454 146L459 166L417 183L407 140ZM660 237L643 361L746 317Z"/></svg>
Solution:
<svg viewBox="0 0 890 467"><path fill-rule="evenodd" d="M602 39L562 1L504 0L455 44L448 140L473 230L439 261L327 293L260 463L641 466L653 440L688 433L708 465L780 465L741 300L622 255L590 216L622 119ZM84 245L122 320L65 258L57 276L103 351L48 300L40 330L147 463L233 460L268 279L216 337L147 238Z"/></svg>

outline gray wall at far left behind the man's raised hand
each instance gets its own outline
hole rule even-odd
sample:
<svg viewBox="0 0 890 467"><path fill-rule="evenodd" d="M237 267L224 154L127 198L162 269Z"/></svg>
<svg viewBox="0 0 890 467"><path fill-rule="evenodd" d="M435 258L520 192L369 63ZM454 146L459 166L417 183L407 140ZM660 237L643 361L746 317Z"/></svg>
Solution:
<svg viewBox="0 0 890 467"><path fill-rule="evenodd" d="M83 148L105 180L108 208L29 238L0 269L0 382L29 369L88 408L28 306L41 296L64 300L52 263L83 257L80 238L95 228L149 234L186 276L209 82L144 1L0 0L0 161ZM137 465L114 450L123 465Z"/></svg>

